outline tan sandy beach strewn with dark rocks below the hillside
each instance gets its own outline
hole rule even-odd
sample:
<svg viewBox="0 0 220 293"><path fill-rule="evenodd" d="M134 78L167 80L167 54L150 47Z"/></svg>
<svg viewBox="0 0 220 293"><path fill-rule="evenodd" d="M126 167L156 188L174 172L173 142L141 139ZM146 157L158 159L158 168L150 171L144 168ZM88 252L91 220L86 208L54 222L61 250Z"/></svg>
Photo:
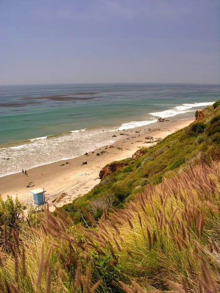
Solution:
<svg viewBox="0 0 220 293"><path fill-rule="evenodd" d="M169 122L157 122L152 125L118 131L116 135L121 138L113 144L114 147L103 146L94 152L89 152L88 155L28 169L28 176L22 174L21 170L21 173L1 177L0 194L3 199L7 195L13 198L18 196L20 201L27 204L32 197L30 190L44 188L46 190L45 198L51 205L51 209L53 209L52 200L63 192L66 193L66 196L56 205L62 206L70 203L74 198L84 195L100 182L99 171L105 165L132 157L132 154L140 147L152 145L145 143L145 137L149 134L154 138L163 139L192 122L193 119L170 120ZM105 153L97 156L96 154L101 151L105 151ZM87 164L82 165L83 161L87 161ZM27 188L26 185L29 182L33 182L34 187Z"/></svg>

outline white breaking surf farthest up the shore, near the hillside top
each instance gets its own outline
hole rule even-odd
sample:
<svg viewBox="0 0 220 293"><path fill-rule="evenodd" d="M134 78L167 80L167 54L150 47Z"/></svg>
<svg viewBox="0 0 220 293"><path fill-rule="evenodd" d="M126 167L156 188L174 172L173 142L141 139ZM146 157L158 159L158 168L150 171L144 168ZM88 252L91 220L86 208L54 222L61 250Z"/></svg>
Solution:
<svg viewBox="0 0 220 293"><path fill-rule="evenodd" d="M176 106L172 109L161 111L161 112L155 112L155 113L149 113L153 116L158 116L161 118L167 118L167 117L172 117L176 116L178 114L184 114L186 112L194 112L194 110L189 110L194 107L203 107L203 106L208 106L208 105L213 105L215 102L208 102L208 103L194 103L194 104L183 104L181 106Z"/></svg>

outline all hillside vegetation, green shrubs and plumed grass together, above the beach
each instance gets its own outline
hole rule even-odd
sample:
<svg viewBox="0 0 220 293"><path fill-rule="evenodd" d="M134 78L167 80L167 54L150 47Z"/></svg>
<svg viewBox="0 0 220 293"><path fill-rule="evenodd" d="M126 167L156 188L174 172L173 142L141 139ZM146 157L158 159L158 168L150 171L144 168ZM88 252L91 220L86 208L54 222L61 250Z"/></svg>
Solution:
<svg viewBox="0 0 220 293"><path fill-rule="evenodd" d="M54 213L0 202L0 292L219 292L220 103L199 112Z"/></svg>

